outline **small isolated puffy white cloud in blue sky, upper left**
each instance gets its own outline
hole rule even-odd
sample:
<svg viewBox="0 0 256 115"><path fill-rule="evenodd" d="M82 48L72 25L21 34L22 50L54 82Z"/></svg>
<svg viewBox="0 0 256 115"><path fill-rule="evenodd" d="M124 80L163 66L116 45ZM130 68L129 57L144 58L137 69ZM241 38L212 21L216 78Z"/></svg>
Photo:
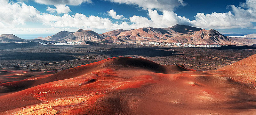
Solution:
<svg viewBox="0 0 256 115"><path fill-rule="evenodd" d="M66 6L65 4L59 4L54 5L56 8L50 8L47 7L46 11L49 11L50 13L57 12L57 14L68 14L68 12L71 12L70 8Z"/></svg>

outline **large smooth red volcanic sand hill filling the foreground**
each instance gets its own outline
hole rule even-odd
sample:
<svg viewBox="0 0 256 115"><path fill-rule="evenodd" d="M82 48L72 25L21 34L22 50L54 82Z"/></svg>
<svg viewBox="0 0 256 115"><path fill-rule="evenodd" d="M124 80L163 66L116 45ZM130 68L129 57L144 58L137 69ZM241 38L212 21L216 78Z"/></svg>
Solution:
<svg viewBox="0 0 256 115"><path fill-rule="evenodd" d="M34 87L3 95L0 112L255 114L254 88L212 73L140 58L109 58L38 78Z"/></svg>

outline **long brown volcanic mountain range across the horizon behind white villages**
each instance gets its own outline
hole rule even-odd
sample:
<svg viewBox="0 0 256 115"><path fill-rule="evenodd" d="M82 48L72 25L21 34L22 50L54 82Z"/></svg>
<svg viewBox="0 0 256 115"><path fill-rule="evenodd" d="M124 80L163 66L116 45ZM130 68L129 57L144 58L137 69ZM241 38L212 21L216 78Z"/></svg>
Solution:
<svg viewBox="0 0 256 115"><path fill-rule="evenodd" d="M220 44L220 45L243 45L255 44L256 40L226 37L220 32L210 29L191 27L189 25L174 25L168 28L144 27L139 29L113 31L98 34L91 30L79 29L76 32L61 31L45 38L36 38L52 42L116 42L116 41L159 41L166 43L184 44ZM24 42L31 40L20 39L12 34L0 35L1 42ZM33 41L33 40L32 40Z"/></svg>

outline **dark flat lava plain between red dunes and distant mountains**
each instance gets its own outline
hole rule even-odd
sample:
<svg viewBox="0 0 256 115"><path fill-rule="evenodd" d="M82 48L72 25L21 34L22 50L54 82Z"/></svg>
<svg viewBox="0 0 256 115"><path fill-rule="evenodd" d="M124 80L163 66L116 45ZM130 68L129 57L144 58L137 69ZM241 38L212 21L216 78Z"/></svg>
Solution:
<svg viewBox="0 0 256 115"><path fill-rule="evenodd" d="M54 71L117 56L145 58L162 65L178 64L195 70L216 70L256 53L255 46L185 48L141 46L138 44L2 46L0 51L1 68L20 67L14 69ZM22 67L28 65L36 66Z"/></svg>

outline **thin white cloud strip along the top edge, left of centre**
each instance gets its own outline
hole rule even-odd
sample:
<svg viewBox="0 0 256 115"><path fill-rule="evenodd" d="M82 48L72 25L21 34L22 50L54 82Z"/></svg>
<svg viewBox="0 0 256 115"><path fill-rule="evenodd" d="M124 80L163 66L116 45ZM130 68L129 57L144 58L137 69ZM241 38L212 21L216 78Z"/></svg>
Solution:
<svg viewBox="0 0 256 115"><path fill-rule="evenodd" d="M59 4L67 4L67 5L80 5L82 3L92 3L91 0L34 0L39 4L46 5L59 5Z"/></svg>

